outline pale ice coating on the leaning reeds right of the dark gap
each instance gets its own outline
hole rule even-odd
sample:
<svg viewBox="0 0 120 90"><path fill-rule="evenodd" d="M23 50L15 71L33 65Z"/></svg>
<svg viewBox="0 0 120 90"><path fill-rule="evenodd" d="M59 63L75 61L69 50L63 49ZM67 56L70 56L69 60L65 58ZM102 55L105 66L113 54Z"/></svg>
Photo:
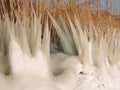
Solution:
<svg viewBox="0 0 120 90"><path fill-rule="evenodd" d="M58 25L55 19L50 15L56 32L60 37L64 53L73 55L78 54L80 62L84 65L90 64L97 67L108 68L107 64L112 66L119 63L119 47L114 43L117 42L118 39L113 41L113 38L109 35L98 35L92 22L90 23L89 28L81 26L81 23L76 16L74 16L74 26L69 16L67 17L71 28L70 30L67 30L65 22L61 17L62 24L64 24L63 27ZM63 28L63 30L61 28ZM89 32L87 32L88 29ZM76 52L77 54L75 54Z"/></svg>

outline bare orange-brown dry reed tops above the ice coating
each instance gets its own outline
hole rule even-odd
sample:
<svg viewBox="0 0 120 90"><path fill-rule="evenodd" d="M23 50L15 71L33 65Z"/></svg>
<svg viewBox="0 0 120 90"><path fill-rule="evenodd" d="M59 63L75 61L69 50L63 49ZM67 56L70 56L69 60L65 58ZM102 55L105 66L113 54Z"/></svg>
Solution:
<svg viewBox="0 0 120 90"><path fill-rule="evenodd" d="M91 22L95 25L95 28L100 35L107 34L108 27L119 27L120 20L118 20L117 17L113 15L112 8L109 8L108 5L108 3L112 2L108 0L106 0L106 7L104 11L99 10L99 0L94 1L95 5L93 11L90 9L90 3L88 0L85 0L85 3L82 5L78 4L77 0L69 0L68 3L64 3L64 1L60 0L53 0L52 3L48 6L47 1L45 0L36 0L35 3L33 3L32 0L29 2L27 0L10 0L8 3L5 1L6 0L0 1L0 16L2 17L5 14L8 14L11 20L22 20L25 18L29 20L33 17L33 13L36 14L37 18L39 18L42 14L41 22L44 26L47 13L49 12L58 23L60 23L59 17L61 16L65 20L65 24L68 30L70 30L68 16L74 24L75 15L77 15L83 26L87 26L88 33ZM8 6L6 6L7 4ZM83 7L85 8L83 9ZM114 9L116 10L116 7ZM52 36L54 39L54 37L57 37L57 35L50 20L49 26L53 32ZM113 33L113 30L110 30L109 33L110 32Z"/></svg>

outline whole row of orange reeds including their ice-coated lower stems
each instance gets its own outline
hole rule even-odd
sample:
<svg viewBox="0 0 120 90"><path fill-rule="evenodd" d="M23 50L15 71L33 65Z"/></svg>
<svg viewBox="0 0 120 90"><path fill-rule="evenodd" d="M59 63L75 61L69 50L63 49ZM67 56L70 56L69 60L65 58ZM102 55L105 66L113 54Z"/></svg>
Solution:
<svg viewBox="0 0 120 90"><path fill-rule="evenodd" d="M88 0L83 4L74 0L49 4L44 0L1 0L1 55L8 58L11 39L31 56L38 48L49 55L49 26L52 40L62 45L64 53L78 55L83 64L102 67L106 60L110 64L118 62L119 20L110 9L101 11L98 1L93 3L91 10Z"/></svg>

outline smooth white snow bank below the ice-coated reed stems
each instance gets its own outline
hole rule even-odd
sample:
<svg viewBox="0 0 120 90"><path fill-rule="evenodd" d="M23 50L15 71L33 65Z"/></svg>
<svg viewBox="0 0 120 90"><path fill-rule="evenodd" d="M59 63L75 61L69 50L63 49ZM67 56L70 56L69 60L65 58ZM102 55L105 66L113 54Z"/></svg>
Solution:
<svg viewBox="0 0 120 90"><path fill-rule="evenodd" d="M31 58L15 41L10 49L12 74L0 74L0 90L120 90L118 65L110 67L108 72L92 65L83 66L77 56L57 53L51 55L49 69L48 58L42 51Z"/></svg>

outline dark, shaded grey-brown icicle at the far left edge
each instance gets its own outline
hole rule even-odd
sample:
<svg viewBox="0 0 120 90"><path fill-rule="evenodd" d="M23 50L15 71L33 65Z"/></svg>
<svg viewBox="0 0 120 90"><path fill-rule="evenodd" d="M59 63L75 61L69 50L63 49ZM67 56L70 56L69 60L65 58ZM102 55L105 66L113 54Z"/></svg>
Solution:
<svg viewBox="0 0 120 90"><path fill-rule="evenodd" d="M10 64L9 64L9 33L7 30L7 22L5 20L0 20L0 73L5 75L10 74Z"/></svg>

